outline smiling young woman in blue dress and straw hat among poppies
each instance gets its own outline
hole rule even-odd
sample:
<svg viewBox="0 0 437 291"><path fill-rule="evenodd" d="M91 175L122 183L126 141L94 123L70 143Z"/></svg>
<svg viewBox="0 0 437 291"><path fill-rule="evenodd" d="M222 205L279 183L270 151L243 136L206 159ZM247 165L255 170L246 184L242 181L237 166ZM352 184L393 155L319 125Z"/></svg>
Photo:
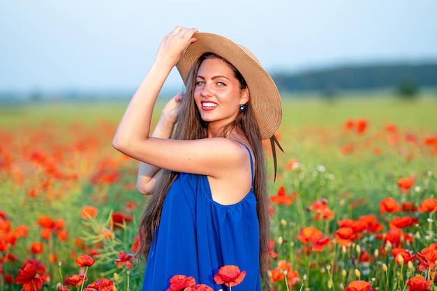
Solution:
<svg viewBox="0 0 437 291"><path fill-rule="evenodd" d="M174 66L186 89L149 135ZM246 271L232 290L261 290L269 237L262 140L273 137L281 116L272 78L246 48L182 27L163 38L113 140L141 161L138 189L152 194L140 226L142 290L168 290L174 275L228 290L213 278L230 264Z"/></svg>

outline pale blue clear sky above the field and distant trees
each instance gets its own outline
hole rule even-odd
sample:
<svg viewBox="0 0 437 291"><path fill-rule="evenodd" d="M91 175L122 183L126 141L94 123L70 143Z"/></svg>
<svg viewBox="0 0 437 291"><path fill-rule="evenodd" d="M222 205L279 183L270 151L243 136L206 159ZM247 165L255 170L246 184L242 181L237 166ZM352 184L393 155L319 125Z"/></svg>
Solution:
<svg viewBox="0 0 437 291"><path fill-rule="evenodd" d="M248 47L269 73L437 61L436 11L435 0L2 0L0 92L135 90L177 25Z"/></svg>

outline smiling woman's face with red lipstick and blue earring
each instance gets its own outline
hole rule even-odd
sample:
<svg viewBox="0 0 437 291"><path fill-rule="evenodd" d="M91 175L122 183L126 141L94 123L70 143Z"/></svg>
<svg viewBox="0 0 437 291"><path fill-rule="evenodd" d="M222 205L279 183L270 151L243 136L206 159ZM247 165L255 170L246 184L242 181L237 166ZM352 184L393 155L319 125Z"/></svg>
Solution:
<svg viewBox="0 0 437 291"><path fill-rule="evenodd" d="M232 68L222 59L205 59L195 79L194 100L209 127L235 120L238 106L249 100L249 89L240 89Z"/></svg>

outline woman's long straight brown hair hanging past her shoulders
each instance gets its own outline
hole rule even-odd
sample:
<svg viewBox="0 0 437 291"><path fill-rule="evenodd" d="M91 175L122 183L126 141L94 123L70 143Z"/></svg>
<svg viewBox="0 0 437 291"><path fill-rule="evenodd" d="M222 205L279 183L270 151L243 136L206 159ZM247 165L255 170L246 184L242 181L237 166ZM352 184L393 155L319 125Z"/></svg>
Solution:
<svg viewBox="0 0 437 291"><path fill-rule="evenodd" d="M207 138L208 124L201 119L198 108L195 105L193 94L195 77L198 73L200 64L202 64L202 61L205 59L214 58L223 59L222 57L213 53L202 54L188 74L186 80L186 91L184 93L186 98L182 98L181 109L177 118L177 126L172 135L172 138L175 140L198 140L200 138ZM234 71L235 77L237 77L240 82L240 89L246 88L247 85L244 81L244 77L239 73L237 68L232 66L229 61L225 59L223 59L223 61L228 63L230 68L232 68ZM258 124L255 122L255 116L253 114L250 99L249 102L246 103L246 110L239 112L239 114L237 114L237 118L223 128L223 136L225 136L226 133L229 133L230 130L238 130L239 133L243 133L245 135L249 144L251 145L253 156L256 161L253 190L257 201L257 214L260 225L260 268L262 273L265 274L268 269L267 248L269 242L269 218L267 214L267 174L265 170L264 150L260 140ZM163 208L165 195L167 194L173 181L175 181L176 177L179 175L178 172L169 170L163 171L163 175L154 187L150 200L147 203L147 207L141 218L139 230L140 245L137 251L138 258L142 256L143 258L147 259L151 241L154 239L154 235L161 218L161 211Z"/></svg>

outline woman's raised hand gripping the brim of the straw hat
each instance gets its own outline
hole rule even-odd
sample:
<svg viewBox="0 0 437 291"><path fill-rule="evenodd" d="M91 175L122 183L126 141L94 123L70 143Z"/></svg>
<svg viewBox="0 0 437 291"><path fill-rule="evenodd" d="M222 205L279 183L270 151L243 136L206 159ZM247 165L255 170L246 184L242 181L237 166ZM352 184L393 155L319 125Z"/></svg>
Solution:
<svg viewBox="0 0 437 291"><path fill-rule="evenodd" d="M196 39L193 38L193 34L197 31L197 29L175 27L172 32L163 38L155 62L165 64L170 68L176 66L188 45L195 42Z"/></svg>

